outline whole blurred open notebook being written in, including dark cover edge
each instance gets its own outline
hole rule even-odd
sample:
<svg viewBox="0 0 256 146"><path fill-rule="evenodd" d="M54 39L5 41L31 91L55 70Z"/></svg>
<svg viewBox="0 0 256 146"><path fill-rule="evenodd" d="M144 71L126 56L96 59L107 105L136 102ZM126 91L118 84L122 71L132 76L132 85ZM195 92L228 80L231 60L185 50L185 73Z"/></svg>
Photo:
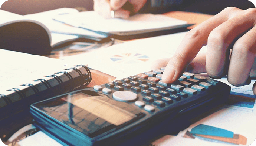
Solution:
<svg viewBox="0 0 256 146"><path fill-rule="evenodd" d="M125 38L125 36L130 36L129 38L133 39L132 37L136 38L136 35L141 34L145 34L144 37L163 35L163 33L167 34L170 30L187 28L191 25L186 21L161 14L136 14L127 19L105 19L95 11L63 14L56 16L54 19L74 27L106 33L110 37L118 39ZM158 34L159 31L162 34Z"/></svg>

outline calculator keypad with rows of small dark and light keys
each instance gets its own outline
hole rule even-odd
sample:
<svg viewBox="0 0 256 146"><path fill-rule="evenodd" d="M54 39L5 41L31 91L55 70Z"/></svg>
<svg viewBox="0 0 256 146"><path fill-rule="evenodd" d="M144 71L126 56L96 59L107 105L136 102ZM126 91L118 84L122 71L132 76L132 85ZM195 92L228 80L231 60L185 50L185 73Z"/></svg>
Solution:
<svg viewBox="0 0 256 146"><path fill-rule="evenodd" d="M210 91L213 86L219 83L219 81L189 72L184 72L180 79L174 83L164 83L161 80L164 69L165 67L162 67L161 69L116 80L113 83L106 83L102 93L112 96L115 100L122 101L115 96L115 92L132 92L138 95L138 98L135 99L137 101L131 97L131 100L127 99L122 102L132 101L135 106L144 108L147 112L154 112L191 100L194 96ZM96 85L94 90L101 92L98 89L99 86Z"/></svg>

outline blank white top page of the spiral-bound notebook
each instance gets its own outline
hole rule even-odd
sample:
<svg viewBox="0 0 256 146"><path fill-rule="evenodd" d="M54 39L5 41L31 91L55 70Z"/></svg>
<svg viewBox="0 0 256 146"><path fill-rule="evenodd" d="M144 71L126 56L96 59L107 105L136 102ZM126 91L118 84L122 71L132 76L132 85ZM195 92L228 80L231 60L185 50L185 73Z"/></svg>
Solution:
<svg viewBox="0 0 256 146"><path fill-rule="evenodd" d="M59 72L66 65L64 60L4 49L0 49L0 62L0 93Z"/></svg>

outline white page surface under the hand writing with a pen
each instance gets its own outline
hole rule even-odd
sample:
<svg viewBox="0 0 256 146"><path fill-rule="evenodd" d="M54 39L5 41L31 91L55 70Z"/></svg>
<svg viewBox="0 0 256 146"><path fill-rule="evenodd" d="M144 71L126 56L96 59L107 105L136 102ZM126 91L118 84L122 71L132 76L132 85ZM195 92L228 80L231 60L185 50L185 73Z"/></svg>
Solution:
<svg viewBox="0 0 256 146"><path fill-rule="evenodd" d="M111 33L159 29L187 24L186 21L160 14L136 14L127 19L105 19L98 15L95 11L59 15L54 19L75 27Z"/></svg>

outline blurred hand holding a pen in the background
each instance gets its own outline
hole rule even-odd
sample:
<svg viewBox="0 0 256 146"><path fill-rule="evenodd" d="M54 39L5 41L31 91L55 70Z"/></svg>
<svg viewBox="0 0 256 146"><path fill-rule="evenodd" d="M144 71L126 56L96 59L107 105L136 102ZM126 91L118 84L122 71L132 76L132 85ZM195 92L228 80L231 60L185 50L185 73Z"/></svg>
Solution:
<svg viewBox="0 0 256 146"><path fill-rule="evenodd" d="M115 18L128 18L131 13L137 13L147 0L94 0L94 10L104 18L111 18L114 10Z"/></svg>

